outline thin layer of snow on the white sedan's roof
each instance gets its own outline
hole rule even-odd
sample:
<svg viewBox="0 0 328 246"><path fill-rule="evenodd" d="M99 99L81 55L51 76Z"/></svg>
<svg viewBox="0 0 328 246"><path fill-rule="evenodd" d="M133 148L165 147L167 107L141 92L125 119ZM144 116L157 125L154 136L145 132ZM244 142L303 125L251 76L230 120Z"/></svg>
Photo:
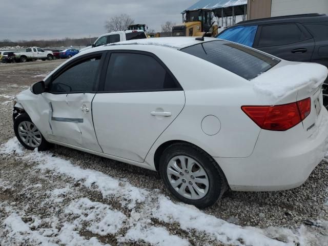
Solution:
<svg viewBox="0 0 328 246"><path fill-rule="evenodd" d="M205 41L218 40L217 38L204 38ZM173 49L182 49L188 46L199 44L201 41L195 37L156 37L145 39L134 39L129 41L122 41L118 43L108 44L107 46L115 45L156 45L165 46Z"/></svg>

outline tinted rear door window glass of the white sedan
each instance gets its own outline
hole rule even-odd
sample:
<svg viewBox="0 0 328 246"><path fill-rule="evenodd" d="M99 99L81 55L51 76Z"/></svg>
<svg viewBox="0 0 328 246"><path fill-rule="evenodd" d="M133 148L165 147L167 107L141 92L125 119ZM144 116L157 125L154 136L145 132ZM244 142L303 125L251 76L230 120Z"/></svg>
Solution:
<svg viewBox="0 0 328 246"><path fill-rule="evenodd" d="M154 57L137 53L113 53L107 69L104 91L181 90L173 76Z"/></svg>

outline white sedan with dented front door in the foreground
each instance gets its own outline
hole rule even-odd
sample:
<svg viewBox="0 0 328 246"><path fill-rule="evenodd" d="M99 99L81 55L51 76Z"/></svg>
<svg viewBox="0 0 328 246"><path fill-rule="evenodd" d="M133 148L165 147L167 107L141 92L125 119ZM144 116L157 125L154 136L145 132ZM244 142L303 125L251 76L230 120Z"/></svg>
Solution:
<svg viewBox="0 0 328 246"><path fill-rule="evenodd" d="M14 100L27 149L57 144L158 171L204 208L228 187L300 186L324 157L327 69L216 38L152 38L74 56Z"/></svg>

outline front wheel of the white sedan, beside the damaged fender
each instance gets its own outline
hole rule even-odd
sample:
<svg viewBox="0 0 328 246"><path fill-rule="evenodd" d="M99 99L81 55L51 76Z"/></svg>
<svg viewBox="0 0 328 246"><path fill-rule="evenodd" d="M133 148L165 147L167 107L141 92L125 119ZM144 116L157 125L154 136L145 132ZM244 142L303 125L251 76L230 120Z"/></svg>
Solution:
<svg viewBox="0 0 328 246"><path fill-rule="evenodd" d="M15 135L26 149L43 151L50 148L50 143L43 137L27 113L18 115L14 120Z"/></svg>

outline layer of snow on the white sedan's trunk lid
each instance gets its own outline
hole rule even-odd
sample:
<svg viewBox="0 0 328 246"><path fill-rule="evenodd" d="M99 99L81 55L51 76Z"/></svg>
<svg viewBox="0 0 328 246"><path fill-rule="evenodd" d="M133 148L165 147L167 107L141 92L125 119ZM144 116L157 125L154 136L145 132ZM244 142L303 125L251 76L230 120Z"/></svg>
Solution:
<svg viewBox="0 0 328 246"><path fill-rule="evenodd" d="M293 76L289 76L289 75ZM259 93L280 98L304 85L315 89L323 83L328 70L325 66L314 63L302 63L273 68L254 78L254 89Z"/></svg>

